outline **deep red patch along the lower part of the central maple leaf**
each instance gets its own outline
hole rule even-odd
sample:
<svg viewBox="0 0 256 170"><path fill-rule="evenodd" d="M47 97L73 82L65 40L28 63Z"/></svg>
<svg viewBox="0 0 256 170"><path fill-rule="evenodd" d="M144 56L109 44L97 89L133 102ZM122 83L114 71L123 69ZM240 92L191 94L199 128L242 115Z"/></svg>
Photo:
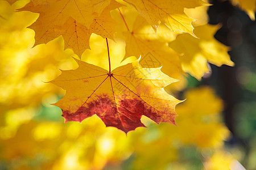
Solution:
<svg viewBox="0 0 256 170"><path fill-rule="evenodd" d="M97 114L106 126L113 126L127 133L138 127L145 127L141 122L142 115L145 115L156 123L163 122L163 118L152 108L138 99L120 100L118 104L113 103L108 96L99 97L87 106L80 107L75 113L63 111L65 122L79 121ZM163 114L163 113L162 113ZM171 115L175 117L175 115Z"/></svg>

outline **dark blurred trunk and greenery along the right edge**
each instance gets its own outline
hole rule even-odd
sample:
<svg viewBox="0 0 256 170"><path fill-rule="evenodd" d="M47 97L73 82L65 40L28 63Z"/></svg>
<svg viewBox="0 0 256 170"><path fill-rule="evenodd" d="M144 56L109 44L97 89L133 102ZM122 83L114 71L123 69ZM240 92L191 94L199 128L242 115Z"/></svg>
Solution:
<svg viewBox="0 0 256 170"><path fill-rule="evenodd" d="M215 38L230 46L235 66L210 65L212 76L198 83L214 87L225 101L224 121L233 134L226 146L237 146L243 152L241 163L251 167L256 164L250 162L256 157L256 23L230 1L210 3L209 24L222 25Z"/></svg>

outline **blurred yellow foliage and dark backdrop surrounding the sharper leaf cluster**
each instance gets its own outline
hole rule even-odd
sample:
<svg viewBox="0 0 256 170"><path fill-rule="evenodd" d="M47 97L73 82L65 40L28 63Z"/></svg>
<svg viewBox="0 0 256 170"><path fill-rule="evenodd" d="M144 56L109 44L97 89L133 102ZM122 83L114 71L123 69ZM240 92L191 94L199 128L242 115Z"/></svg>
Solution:
<svg viewBox="0 0 256 170"><path fill-rule="evenodd" d="M256 169L256 24L254 13L247 12L250 19L233 6L243 1L211 1L208 9L209 23L221 25L215 37L230 46L236 65L210 65L211 75L200 82L188 75L187 87L175 93L187 99L176 107L177 126L142 117L148 128L127 135L105 128L97 116L64 124L61 110L50 104L65 92L45 82L59 69L74 69L74 54L64 50L61 37L33 47L35 33L26 27L38 14L16 11L27 2L0 1L1 170ZM101 40L96 42L92 48L98 49ZM97 55L105 55L104 50ZM124 49L112 50L114 56ZM86 50L84 56L90 53ZM100 59L83 59L102 65ZM118 66L120 61L115 62Z"/></svg>

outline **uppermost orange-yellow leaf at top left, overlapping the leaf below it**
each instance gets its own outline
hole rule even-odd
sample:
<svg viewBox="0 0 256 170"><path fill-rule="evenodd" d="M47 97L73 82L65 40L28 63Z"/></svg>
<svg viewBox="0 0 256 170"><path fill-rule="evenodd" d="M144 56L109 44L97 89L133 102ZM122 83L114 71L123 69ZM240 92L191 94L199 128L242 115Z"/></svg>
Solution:
<svg viewBox="0 0 256 170"><path fill-rule="evenodd" d="M45 5L44 1L34 2L31 1L22 10L42 14L38 20L42 23L47 23L48 27L63 25L69 17L72 17L77 22L89 28L93 19L99 16L104 8L110 4L110 0L53 0L48 1L47 5Z"/></svg>

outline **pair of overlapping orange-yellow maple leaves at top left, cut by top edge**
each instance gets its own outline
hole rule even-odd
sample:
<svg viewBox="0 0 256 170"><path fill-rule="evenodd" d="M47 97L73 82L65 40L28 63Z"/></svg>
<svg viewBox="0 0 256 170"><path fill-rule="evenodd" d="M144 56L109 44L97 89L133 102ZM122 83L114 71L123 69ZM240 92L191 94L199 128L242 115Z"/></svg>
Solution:
<svg viewBox="0 0 256 170"><path fill-rule="evenodd" d="M65 48L71 48L80 57L89 49L92 33L114 39L115 21L110 11L122 6L114 0L105 1L31 1L20 10L39 13L29 28L35 31L35 45L63 36Z"/></svg>

